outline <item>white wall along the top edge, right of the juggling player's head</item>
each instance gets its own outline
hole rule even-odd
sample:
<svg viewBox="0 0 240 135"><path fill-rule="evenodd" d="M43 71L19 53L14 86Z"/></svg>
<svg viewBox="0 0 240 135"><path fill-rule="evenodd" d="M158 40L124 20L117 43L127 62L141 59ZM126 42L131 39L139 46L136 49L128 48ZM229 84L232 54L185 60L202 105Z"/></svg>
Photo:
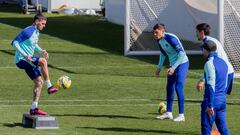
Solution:
<svg viewBox="0 0 240 135"><path fill-rule="evenodd" d="M32 0L32 3L36 4L36 1ZM48 10L58 9L63 4L78 9L101 9L100 0L38 0L38 2Z"/></svg>

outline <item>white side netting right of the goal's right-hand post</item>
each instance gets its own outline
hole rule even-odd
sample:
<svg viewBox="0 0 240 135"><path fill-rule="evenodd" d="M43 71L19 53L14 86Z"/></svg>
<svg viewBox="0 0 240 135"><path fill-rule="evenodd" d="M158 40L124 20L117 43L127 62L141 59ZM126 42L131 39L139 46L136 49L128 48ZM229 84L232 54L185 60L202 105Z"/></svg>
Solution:
<svg viewBox="0 0 240 135"><path fill-rule="evenodd" d="M238 77L240 73L240 1L224 3L224 49Z"/></svg>

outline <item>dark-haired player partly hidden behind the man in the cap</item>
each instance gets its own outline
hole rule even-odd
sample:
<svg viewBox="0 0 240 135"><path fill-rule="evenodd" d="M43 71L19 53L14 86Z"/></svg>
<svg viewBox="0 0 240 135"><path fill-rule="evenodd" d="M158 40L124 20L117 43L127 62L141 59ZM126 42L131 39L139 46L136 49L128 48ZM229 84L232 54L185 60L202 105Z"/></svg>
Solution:
<svg viewBox="0 0 240 135"><path fill-rule="evenodd" d="M233 80L234 80L234 69L232 64L229 62L226 52L223 49L223 45L217 39L209 36L210 30L211 30L211 27L209 24L207 23L198 24L196 26L197 38L198 40L201 40L203 44L206 43L207 41L212 41L216 44L217 46L216 53L228 65L228 80L227 80L227 86L226 86L226 93L230 95L232 91ZM203 86L204 86L204 78L201 78L197 84L197 89L201 91L203 90Z"/></svg>

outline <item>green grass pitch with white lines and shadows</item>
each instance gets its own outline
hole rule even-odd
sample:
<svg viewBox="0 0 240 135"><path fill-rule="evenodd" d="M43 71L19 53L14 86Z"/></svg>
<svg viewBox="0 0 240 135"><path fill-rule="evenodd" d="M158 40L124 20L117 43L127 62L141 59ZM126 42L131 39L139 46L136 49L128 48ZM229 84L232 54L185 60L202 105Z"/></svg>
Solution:
<svg viewBox="0 0 240 135"><path fill-rule="evenodd" d="M21 125L29 110L33 83L14 65L10 42L32 22L15 6L0 6L0 134L1 135L200 135L202 92L195 89L203 70L201 56L189 56L185 85L186 122L156 120L165 100L166 68L156 78L158 56L123 56L123 27L98 21L95 16L48 16L39 45L49 52L54 82L72 78L70 90L48 95L42 91L40 107L56 116L58 130L34 130ZM240 134L239 84L227 97L227 122L232 135ZM175 96L176 97L176 96ZM177 116L177 101L174 102Z"/></svg>

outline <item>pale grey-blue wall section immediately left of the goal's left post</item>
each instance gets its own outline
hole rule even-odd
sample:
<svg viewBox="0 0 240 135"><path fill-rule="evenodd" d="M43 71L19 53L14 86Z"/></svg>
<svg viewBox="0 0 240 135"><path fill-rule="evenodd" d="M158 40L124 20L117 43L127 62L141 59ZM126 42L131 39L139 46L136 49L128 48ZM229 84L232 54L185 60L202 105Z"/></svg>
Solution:
<svg viewBox="0 0 240 135"><path fill-rule="evenodd" d="M124 25L125 0L105 0L105 8L108 21Z"/></svg>

